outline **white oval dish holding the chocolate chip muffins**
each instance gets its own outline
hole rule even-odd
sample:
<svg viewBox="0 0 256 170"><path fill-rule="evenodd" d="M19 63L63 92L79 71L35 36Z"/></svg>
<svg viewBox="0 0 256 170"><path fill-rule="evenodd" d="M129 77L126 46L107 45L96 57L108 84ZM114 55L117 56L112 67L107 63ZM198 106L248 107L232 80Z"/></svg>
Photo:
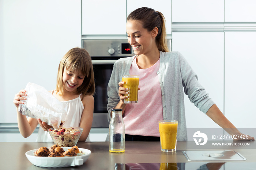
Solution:
<svg viewBox="0 0 256 170"><path fill-rule="evenodd" d="M71 147L62 147L64 151L70 149ZM49 149L49 148L48 148ZM37 149L30 150L26 152L26 157L35 166L41 167L68 167L68 166L79 166L89 158L91 151L84 148L79 148L84 155L77 157L35 157L34 152Z"/></svg>

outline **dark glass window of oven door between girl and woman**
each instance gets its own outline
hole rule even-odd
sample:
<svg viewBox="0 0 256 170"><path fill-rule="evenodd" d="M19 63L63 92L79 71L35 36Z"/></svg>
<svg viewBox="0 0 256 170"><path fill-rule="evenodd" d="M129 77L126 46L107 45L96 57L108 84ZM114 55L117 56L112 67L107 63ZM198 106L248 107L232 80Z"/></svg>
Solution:
<svg viewBox="0 0 256 170"><path fill-rule="evenodd" d="M95 94L94 113L108 113L108 83L113 64L94 64Z"/></svg>

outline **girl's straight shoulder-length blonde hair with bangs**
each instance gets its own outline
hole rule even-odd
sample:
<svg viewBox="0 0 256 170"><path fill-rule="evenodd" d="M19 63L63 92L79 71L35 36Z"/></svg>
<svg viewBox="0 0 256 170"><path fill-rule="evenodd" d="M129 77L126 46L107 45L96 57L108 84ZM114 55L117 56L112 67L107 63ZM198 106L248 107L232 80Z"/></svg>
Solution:
<svg viewBox="0 0 256 170"><path fill-rule="evenodd" d="M71 72L79 72L84 75L83 84L78 87L77 94L82 93L82 100L84 96L93 95L95 92L93 64L91 62L90 54L81 48L73 48L69 50L61 59L57 74L56 91L60 96L63 96L64 83L62 81L64 68L68 68Z"/></svg>

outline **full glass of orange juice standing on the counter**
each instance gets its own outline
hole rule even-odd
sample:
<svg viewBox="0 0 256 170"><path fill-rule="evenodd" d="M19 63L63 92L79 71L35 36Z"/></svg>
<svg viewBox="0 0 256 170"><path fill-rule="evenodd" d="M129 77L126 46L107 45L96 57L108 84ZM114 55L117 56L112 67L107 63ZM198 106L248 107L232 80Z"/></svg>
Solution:
<svg viewBox="0 0 256 170"><path fill-rule="evenodd" d="M177 143L177 120L161 120L158 122L161 151L175 152Z"/></svg>

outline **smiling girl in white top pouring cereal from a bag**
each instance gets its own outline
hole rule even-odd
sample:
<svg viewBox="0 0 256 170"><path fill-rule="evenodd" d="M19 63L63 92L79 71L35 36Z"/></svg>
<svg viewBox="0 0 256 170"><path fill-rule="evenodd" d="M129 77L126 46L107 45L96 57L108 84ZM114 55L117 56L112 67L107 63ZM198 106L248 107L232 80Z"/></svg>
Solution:
<svg viewBox="0 0 256 170"><path fill-rule="evenodd" d="M85 49L73 48L61 59L57 74L56 90L51 93L63 103L68 104L68 119L63 126L82 127L79 141L89 141L89 132L93 122L95 91L91 57ZM18 127L24 138L30 136L40 124L37 142L52 142L47 130L52 128L40 119L26 117L18 111L20 100L26 100L26 90L20 90L14 97L17 108Z"/></svg>

